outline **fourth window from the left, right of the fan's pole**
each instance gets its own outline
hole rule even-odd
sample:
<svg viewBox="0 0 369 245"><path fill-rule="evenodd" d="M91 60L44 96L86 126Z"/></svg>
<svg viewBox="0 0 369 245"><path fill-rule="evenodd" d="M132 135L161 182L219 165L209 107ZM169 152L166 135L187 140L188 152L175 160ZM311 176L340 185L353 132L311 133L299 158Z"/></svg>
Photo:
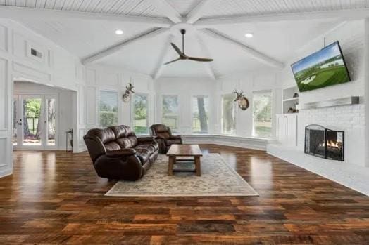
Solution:
<svg viewBox="0 0 369 245"><path fill-rule="evenodd" d="M192 132L208 133L208 108L209 98L207 96L192 97Z"/></svg>

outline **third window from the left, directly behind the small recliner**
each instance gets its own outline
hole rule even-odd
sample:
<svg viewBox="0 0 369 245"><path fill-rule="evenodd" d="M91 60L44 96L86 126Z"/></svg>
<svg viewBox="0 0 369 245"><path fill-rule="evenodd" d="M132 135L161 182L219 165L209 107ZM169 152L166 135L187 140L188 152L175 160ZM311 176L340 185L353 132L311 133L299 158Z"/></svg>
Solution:
<svg viewBox="0 0 369 245"><path fill-rule="evenodd" d="M178 129L178 96L163 95L163 117L161 122L169 126L172 131Z"/></svg>

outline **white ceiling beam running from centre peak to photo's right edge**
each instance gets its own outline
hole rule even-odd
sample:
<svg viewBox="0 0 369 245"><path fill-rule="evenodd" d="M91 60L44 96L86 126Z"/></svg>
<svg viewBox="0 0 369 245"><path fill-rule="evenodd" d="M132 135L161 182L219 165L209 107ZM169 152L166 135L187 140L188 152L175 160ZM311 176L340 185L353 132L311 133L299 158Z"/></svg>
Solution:
<svg viewBox="0 0 369 245"><path fill-rule="evenodd" d="M352 9L342 11L318 11L307 13L283 13L277 15L247 15L237 17L206 18L197 20L194 25L201 28L211 28L221 25L237 25L252 22L276 22L294 20L361 20L369 18L369 9Z"/></svg>

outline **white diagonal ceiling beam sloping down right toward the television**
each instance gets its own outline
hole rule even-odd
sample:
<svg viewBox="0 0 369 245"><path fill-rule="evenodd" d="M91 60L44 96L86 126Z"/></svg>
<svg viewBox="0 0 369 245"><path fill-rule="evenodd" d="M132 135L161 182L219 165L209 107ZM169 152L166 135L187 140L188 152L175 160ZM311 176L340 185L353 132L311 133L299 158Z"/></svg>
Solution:
<svg viewBox="0 0 369 245"><path fill-rule="evenodd" d="M275 60L274 58L271 58L270 56L265 55L264 53L261 53L260 51L257 51L254 48L246 46L245 44L242 44L240 41L232 39L232 37L229 37L223 33L217 32L214 29L201 29L199 31L204 32L205 34L215 39L226 41L228 44L237 46L242 51L248 53L252 58L254 58L255 60L258 60L259 62L263 62L265 65L269 65L270 67L275 67L278 69L282 69L284 67L283 62Z"/></svg>

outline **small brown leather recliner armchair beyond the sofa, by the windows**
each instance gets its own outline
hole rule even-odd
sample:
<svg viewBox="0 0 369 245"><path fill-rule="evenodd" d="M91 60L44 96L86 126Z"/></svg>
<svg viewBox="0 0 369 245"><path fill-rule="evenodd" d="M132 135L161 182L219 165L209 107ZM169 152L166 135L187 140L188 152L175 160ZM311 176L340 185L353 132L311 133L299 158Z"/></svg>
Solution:
<svg viewBox="0 0 369 245"><path fill-rule="evenodd" d="M170 145L182 144L180 135L173 135L168 126L164 124L154 124L150 126L150 135L159 143L160 153L168 152Z"/></svg>

